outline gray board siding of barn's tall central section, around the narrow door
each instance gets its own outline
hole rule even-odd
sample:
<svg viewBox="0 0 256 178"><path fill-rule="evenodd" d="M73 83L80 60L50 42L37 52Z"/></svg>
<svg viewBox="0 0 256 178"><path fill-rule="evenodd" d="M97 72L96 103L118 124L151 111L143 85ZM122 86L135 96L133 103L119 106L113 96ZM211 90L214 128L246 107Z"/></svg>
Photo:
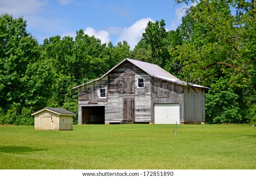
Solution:
<svg viewBox="0 0 256 178"><path fill-rule="evenodd" d="M145 79L145 87L137 89L137 78ZM131 63L123 63L108 75L108 105L105 122L121 122L123 98L134 98L135 122L151 122L151 77Z"/></svg>

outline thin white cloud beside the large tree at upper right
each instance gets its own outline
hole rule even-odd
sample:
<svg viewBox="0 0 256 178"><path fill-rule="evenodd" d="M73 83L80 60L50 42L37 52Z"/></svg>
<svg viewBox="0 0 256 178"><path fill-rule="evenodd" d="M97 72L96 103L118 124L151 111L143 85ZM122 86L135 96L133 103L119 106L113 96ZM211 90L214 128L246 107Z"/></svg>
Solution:
<svg viewBox="0 0 256 178"><path fill-rule="evenodd" d="M186 9L189 9L191 6L196 6L198 2L192 3L191 5L187 6L186 4L183 4L182 6L179 6L176 11L176 17L172 20L172 25L170 27L171 30L176 30L177 27L182 23L182 17L186 15Z"/></svg>

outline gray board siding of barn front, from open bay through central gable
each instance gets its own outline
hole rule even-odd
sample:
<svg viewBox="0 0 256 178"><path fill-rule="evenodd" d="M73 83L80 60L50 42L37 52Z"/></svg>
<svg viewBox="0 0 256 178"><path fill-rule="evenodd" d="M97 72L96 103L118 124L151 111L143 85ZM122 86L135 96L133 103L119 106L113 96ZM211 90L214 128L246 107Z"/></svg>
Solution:
<svg viewBox="0 0 256 178"><path fill-rule="evenodd" d="M137 78L144 78L144 88L137 88ZM100 87L107 89L107 98L99 98ZM151 122L151 76L125 62L105 78L79 88L79 124L82 123L83 106L105 106L105 123L121 122L123 98L134 98L135 122Z"/></svg>

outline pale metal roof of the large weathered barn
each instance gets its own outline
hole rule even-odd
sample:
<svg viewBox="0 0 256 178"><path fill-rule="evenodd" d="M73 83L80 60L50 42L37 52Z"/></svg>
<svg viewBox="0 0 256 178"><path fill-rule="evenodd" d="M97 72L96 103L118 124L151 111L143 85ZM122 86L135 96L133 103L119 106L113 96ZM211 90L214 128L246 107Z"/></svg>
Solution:
<svg viewBox="0 0 256 178"><path fill-rule="evenodd" d="M180 85L186 85L187 83L185 81L182 81L180 79L178 79L177 77L175 77L174 75L170 74L169 72L167 72L166 70L164 70L163 68L161 68L160 66L157 66L156 64L152 64L152 63L147 63L147 62L143 62L140 60L134 60L134 59L129 59L129 58L125 58L124 60L122 60L119 64L117 64L116 66L114 66L111 70L109 70L107 73L105 73L104 75L102 75L102 77L97 78L95 80L92 80L90 82L81 84L79 86L75 86L72 89L77 89L80 86L84 86L87 85L88 83L92 83L96 80L100 80L102 78L104 78L106 75L108 75L113 69L115 69L117 66L119 66L120 64L122 64L125 61L129 61L132 64L134 64L135 66L139 67L140 69L142 69L144 72L148 73L149 75L151 75L154 78L160 79L160 80L166 80L166 81L170 81L173 83L178 83ZM193 83L189 83L189 85L191 86L195 86L195 87L199 87L199 88L207 88L205 86L201 86L201 85L196 85ZM209 88L207 88L209 89Z"/></svg>

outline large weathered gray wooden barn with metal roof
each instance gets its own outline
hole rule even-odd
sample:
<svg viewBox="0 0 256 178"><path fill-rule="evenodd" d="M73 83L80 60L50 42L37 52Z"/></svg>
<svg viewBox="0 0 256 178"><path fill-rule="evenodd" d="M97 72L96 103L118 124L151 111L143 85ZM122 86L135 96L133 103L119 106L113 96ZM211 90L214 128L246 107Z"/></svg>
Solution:
<svg viewBox="0 0 256 178"><path fill-rule="evenodd" d="M126 58L76 86L78 123L205 122L204 86L186 85L159 66Z"/></svg>

